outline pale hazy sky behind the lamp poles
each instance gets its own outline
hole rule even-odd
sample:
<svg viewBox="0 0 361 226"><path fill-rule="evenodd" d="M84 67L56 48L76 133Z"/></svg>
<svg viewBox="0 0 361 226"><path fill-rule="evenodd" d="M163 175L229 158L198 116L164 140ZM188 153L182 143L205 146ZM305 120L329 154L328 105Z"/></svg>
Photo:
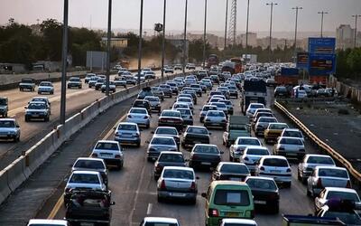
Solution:
<svg viewBox="0 0 361 226"><path fill-rule="evenodd" d="M229 0L231 5L232 0ZM251 0L250 31L268 31L271 1ZM325 15L324 30L335 31L339 24L352 24L351 14L361 14L361 0L278 0L273 11L273 30L288 32L294 30L293 6L302 6L299 14L299 31L319 31L318 11ZM107 21L107 0L69 0L69 24L105 28ZM153 28L162 23L163 0L144 0L143 26ZM185 0L167 0L167 30L181 30L184 24ZM62 0L0 0L0 24L10 17L23 24L35 24L37 19L55 18L62 21ZM224 31L226 0L208 0L208 30ZM246 0L237 1L237 30L245 31ZM140 0L113 0L113 28L138 29ZM204 0L189 0L188 29L203 29ZM91 18L91 19L90 19ZM361 24L361 20L360 23Z"/></svg>

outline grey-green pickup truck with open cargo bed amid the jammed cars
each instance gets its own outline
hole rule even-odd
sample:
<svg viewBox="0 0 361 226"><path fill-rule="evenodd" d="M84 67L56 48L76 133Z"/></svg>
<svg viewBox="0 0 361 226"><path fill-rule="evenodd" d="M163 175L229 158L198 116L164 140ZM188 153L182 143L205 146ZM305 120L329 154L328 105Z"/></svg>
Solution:
<svg viewBox="0 0 361 226"><path fill-rule="evenodd" d="M226 131L223 133L223 145L231 146L237 137L251 137L249 119L245 116L230 116Z"/></svg>

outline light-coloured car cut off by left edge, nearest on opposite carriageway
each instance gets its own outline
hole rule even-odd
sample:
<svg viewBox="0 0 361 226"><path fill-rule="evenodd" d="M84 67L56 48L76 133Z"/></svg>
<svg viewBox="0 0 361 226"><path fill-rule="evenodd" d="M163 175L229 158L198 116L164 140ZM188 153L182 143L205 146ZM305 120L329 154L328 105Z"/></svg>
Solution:
<svg viewBox="0 0 361 226"><path fill-rule="evenodd" d="M0 118L0 139L20 141L20 126L15 118Z"/></svg>

